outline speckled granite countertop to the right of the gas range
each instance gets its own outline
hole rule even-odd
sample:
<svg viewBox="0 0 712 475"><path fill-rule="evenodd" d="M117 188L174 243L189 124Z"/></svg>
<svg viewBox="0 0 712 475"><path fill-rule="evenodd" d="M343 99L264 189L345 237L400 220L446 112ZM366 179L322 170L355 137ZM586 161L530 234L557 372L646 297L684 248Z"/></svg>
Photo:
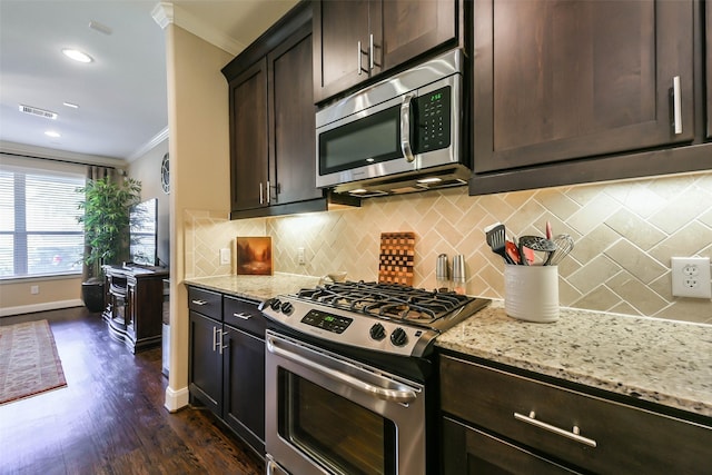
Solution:
<svg viewBox="0 0 712 475"><path fill-rule="evenodd" d="M554 323L528 323L495 300L436 345L712 416L712 325L573 308L561 308Z"/></svg>

